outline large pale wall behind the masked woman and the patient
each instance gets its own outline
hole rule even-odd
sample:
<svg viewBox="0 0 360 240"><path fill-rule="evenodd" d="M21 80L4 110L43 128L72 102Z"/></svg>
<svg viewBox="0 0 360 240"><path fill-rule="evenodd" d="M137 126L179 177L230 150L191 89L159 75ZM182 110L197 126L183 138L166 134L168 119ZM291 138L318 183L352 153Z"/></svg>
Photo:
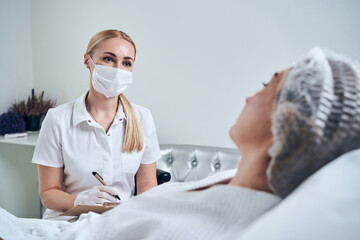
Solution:
<svg viewBox="0 0 360 240"><path fill-rule="evenodd" d="M314 45L360 60L359 10L357 0L33 0L34 86L58 104L77 98L89 84L88 40L121 29L138 49L126 95L150 108L160 143L234 147L228 130L245 97L275 71Z"/></svg>

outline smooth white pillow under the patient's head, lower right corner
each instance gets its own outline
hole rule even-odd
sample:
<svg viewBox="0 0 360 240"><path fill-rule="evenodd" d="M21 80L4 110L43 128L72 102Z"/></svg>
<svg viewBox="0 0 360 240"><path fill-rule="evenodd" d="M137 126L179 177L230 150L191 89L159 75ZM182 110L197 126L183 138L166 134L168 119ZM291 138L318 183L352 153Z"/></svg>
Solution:
<svg viewBox="0 0 360 240"><path fill-rule="evenodd" d="M360 149L325 165L238 240L360 239Z"/></svg>

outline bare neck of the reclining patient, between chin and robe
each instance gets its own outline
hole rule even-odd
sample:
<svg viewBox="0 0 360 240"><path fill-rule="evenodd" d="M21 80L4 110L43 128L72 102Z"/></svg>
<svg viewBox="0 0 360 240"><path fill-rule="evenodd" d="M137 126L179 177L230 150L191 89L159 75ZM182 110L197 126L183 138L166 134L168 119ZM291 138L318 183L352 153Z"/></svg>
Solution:
<svg viewBox="0 0 360 240"><path fill-rule="evenodd" d="M269 162L267 152L267 146L252 151L242 152L238 171L229 184L271 192L266 178L266 169Z"/></svg>

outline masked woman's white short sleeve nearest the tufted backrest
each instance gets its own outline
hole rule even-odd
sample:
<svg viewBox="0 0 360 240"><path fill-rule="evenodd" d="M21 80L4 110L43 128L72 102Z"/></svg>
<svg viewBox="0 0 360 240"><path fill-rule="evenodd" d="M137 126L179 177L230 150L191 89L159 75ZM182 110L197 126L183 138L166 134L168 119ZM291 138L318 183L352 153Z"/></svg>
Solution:
<svg viewBox="0 0 360 240"><path fill-rule="evenodd" d="M157 138L156 129L155 129L155 123L150 112L149 112L148 121L149 121L148 122L149 135L144 136L145 150L141 160L141 164L151 164L157 162L161 157L159 140Z"/></svg>

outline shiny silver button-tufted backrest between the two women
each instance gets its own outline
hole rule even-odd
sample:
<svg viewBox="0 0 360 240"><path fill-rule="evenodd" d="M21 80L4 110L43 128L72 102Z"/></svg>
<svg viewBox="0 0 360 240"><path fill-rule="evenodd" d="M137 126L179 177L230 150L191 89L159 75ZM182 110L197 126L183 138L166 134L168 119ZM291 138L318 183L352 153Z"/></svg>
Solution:
<svg viewBox="0 0 360 240"><path fill-rule="evenodd" d="M238 150L196 145L161 144L157 168L171 174L171 182L203 179L219 171L237 168Z"/></svg>

